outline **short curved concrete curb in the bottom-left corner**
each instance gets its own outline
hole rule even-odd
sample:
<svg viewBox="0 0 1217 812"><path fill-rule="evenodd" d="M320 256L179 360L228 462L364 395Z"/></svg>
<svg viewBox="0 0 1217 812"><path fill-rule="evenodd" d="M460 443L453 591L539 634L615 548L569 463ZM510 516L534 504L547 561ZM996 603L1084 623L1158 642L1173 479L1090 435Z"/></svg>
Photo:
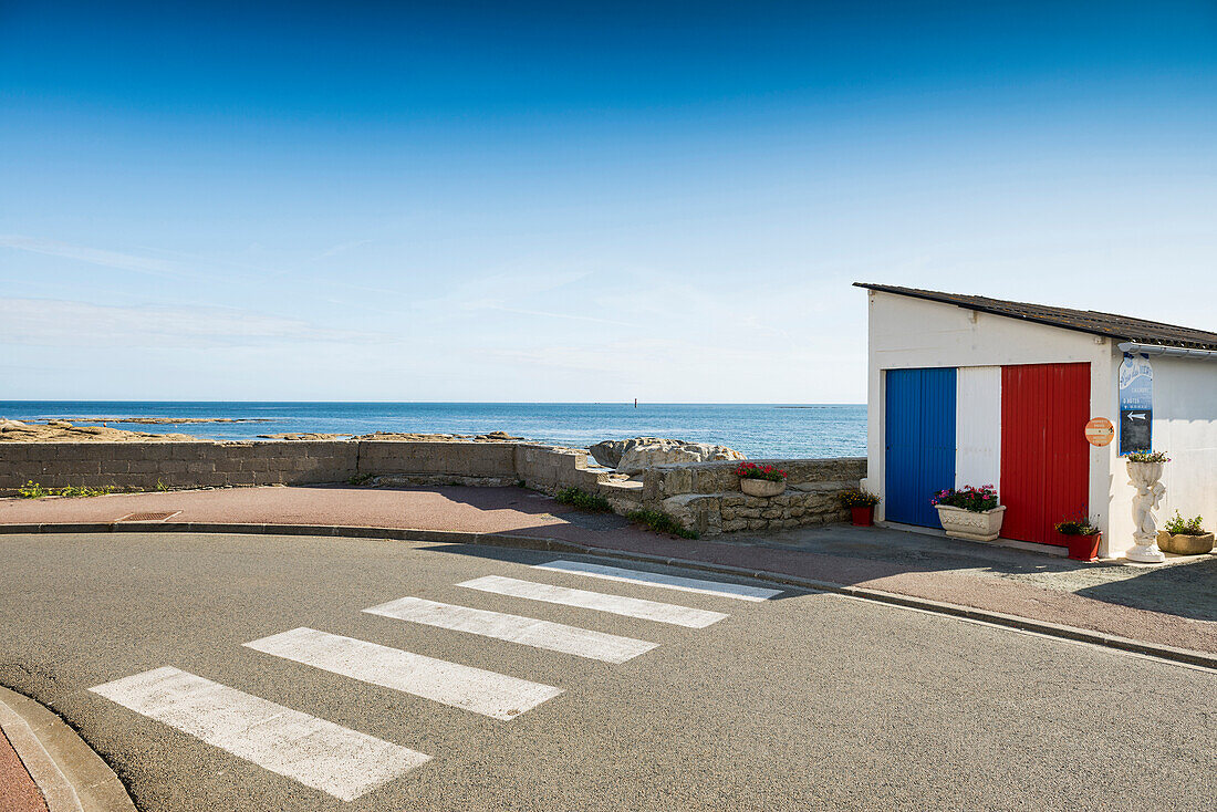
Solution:
<svg viewBox="0 0 1217 812"><path fill-rule="evenodd" d="M114 771L50 709L0 687L0 728L49 812L135 812Z"/></svg>

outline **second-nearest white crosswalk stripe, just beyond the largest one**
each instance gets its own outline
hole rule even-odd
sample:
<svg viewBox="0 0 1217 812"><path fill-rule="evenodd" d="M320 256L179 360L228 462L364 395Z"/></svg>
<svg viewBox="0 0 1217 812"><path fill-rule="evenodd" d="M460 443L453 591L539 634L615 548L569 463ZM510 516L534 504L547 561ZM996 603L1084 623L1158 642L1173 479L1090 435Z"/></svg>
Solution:
<svg viewBox="0 0 1217 812"><path fill-rule="evenodd" d="M312 628L273 634L245 645L497 719L515 718L562 693L561 688Z"/></svg>

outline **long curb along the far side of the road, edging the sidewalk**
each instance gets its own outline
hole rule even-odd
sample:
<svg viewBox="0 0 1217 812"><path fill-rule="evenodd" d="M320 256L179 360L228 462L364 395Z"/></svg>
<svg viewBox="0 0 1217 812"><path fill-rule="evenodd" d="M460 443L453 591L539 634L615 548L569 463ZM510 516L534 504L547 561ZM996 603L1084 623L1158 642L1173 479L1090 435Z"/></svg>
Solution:
<svg viewBox="0 0 1217 812"><path fill-rule="evenodd" d="M454 544L476 544L486 547L509 547L529 550L549 550L554 553L578 553L583 555L600 555L607 558L641 561L649 564L662 564L669 566L702 570L706 572L718 572L720 575L734 575L747 578L756 578L770 583L778 583L813 592L832 592L849 595L862 600L871 600L907 609L919 609L938 615L961 617L965 620L1004 626L1021 632L1034 632L1079 643L1090 643L1120 651L1143 654L1146 656L1170 660L1189 666L1211 668L1217 671L1217 654L1195 651L1193 649L1180 649L1160 643L1146 643L1134 640L1118 634L1095 632L1092 629L1038 621L1017 615L1006 615L972 606L949 604L929 598L915 595L903 595L869 587L853 587L849 584L831 581L819 581L801 576L787 575L785 572L770 572L767 570L755 570L750 567L738 567L729 564L714 564L712 561L699 561L696 559L679 559L666 555L652 555L649 553L635 553L632 550L618 550L607 547L595 547L581 544L578 542L565 542L555 538L543 538L537 536L523 536L521 533L477 533L456 530L410 530L402 527L371 527L371 526L347 526L347 525L263 525L263 523L219 523L219 522L92 522L92 523L43 523L43 525L0 525L0 534L15 533L243 533L243 534L274 534L274 536L332 536L349 538L385 538L392 541L419 541L419 542L447 542Z"/></svg>

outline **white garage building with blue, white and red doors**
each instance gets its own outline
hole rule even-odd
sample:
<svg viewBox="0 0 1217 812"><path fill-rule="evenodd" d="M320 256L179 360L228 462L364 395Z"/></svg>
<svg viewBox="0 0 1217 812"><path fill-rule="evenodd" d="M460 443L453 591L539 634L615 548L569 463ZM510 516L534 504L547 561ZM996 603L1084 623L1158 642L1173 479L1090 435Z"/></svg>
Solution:
<svg viewBox="0 0 1217 812"><path fill-rule="evenodd" d="M938 527L936 491L994 485L1002 536L1064 545L1088 513L1100 554L1133 544L1122 457L1166 452L1159 523L1217 525L1217 334L1093 310L888 285L869 291L867 487L876 519ZM1114 441L1086 425L1107 418Z"/></svg>

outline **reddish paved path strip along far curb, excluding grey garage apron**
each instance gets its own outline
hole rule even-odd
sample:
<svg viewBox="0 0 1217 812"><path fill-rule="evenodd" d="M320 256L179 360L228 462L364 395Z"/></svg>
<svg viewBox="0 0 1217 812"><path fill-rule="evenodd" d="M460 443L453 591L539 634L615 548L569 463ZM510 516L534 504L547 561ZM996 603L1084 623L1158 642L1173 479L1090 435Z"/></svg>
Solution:
<svg viewBox="0 0 1217 812"><path fill-rule="evenodd" d="M657 536L635 527L594 530L520 488L375 489L341 486L231 488L91 499L0 499L0 523L112 522L135 511L180 510L170 521L348 525L520 533L863 586L1134 639L1217 653L1217 623L1095 600L950 567ZM584 526L567 521L566 516ZM612 523L611 517L606 520ZM591 526L587 526L587 525Z"/></svg>

